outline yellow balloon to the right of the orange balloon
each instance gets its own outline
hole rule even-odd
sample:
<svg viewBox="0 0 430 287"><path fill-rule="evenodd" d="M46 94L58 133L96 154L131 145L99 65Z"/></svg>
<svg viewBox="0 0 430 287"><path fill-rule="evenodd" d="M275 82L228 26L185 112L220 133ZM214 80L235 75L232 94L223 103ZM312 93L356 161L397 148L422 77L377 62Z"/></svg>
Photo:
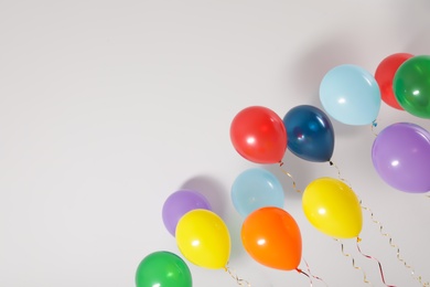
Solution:
<svg viewBox="0 0 430 287"><path fill-rule="evenodd" d="M312 181L303 192L302 206L309 222L326 235L353 238L362 231L363 214L357 195L341 180Z"/></svg>

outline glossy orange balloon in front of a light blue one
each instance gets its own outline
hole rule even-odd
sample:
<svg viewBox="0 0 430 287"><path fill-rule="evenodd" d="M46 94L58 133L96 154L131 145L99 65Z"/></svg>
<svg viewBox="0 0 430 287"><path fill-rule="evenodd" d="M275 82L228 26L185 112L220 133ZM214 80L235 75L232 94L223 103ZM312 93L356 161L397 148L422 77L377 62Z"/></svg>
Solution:
<svg viewBox="0 0 430 287"><path fill-rule="evenodd" d="M279 208L262 208L246 217L241 242L258 263L281 270L297 269L302 257L302 237L294 219Z"/></svg>

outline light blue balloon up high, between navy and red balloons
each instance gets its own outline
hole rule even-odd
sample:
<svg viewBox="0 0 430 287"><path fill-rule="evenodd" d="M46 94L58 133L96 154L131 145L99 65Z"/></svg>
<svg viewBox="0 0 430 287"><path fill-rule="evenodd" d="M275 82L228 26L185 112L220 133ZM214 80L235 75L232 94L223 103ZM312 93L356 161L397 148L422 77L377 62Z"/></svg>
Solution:
<svg viewBox="0 0 430 287"><path fill-rule="evenodd" d="M375 77L355 65L330 70L320 85L320 99L334 119L353 126L376 120L380 108L380 91Z"/></svg>

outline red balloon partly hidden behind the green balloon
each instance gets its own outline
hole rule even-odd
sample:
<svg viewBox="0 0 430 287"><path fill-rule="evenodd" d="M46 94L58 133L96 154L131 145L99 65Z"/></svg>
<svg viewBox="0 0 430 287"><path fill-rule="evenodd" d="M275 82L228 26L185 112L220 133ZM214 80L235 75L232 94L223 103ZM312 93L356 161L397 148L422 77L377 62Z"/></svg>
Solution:
<svg viewBox="0 0 430 287"><path fill-rule="evenodd" d="M397 109L404 109L397 102L393 91L393 78L397 72L397 68L408 59L413 55L408 53L397 53L387 56L379 63L375 72L375 79L379 85L380 96L383 100L390 107Z"/></svg>

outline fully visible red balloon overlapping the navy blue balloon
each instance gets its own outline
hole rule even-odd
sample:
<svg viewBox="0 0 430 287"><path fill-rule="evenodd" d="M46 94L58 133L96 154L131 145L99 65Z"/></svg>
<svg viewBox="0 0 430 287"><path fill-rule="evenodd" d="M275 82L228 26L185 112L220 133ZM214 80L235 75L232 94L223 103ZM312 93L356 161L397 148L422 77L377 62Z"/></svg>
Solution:
<svg viewBox="0 0 430 287"><path fill-rule="evenodd" d="M260 106L247 107L235 116L230 139L240 156L256 163L281 162L287 150L282 119L271 109Z"/></svg>

